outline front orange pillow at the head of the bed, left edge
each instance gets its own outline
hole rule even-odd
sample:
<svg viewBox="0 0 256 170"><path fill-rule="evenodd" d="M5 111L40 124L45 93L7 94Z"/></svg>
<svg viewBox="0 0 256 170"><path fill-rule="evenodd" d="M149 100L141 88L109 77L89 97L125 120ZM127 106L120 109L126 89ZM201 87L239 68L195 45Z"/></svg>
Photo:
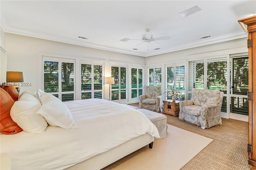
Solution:
<svg viewBox="0 0 256 170"><path fill-rule="evenodd" d="M13 104L14 100L11 96L4 89L0 88L0 131L6 135L16 134L22 131L10 116L10 110Z"/></svg>

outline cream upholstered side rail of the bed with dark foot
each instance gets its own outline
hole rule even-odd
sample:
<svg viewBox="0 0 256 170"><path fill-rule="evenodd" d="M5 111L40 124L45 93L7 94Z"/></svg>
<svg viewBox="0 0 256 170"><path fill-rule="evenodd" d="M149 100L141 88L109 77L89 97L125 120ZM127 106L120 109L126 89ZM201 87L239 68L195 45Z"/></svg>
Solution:
<svg viewBox="0 0 256 170"><path fill-rule="evenodd" d="M70 166L65 170L100 170L146 145L149 145L149 148L152 149L153 142L154 137L146 133L83 162Z"/></svg>

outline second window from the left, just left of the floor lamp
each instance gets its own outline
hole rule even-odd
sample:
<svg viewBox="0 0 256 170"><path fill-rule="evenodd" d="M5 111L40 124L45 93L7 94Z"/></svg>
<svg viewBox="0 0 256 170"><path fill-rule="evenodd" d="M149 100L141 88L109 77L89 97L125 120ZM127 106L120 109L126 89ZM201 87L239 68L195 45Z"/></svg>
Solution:
<svg viewBox="0 0 256 170"><path fill-rule="evenodd" d="M102 98L103 64L81 61L81 98Z"/></svg>

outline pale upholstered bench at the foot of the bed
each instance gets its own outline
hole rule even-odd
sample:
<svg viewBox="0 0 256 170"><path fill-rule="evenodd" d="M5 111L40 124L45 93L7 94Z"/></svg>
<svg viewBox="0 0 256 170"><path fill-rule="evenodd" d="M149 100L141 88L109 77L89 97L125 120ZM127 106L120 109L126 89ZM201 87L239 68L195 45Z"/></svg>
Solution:
<svg viewBox="0 0 256 170"><path fill-rule="evenodd" d="M150 119L158 129L160 138L156 139L163 139L166 137L167 117L165 115L147 109L138 109L138 111L141 111L146 117L148 117L148 119Z"/></svg>

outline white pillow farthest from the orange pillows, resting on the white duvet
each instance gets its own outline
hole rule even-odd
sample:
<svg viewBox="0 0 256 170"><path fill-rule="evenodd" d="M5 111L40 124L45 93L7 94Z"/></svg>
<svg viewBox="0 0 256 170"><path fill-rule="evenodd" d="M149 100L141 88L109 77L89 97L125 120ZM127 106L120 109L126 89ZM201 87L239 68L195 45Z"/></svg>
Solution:
<svg viewBox="0 0 256 170"><path fill-rule="evenodd" d="M59 126L64 129L78 128L65 104L52 94L44 92L40 95L42 106L37 113L44 116L50 126Z"/></svg>

